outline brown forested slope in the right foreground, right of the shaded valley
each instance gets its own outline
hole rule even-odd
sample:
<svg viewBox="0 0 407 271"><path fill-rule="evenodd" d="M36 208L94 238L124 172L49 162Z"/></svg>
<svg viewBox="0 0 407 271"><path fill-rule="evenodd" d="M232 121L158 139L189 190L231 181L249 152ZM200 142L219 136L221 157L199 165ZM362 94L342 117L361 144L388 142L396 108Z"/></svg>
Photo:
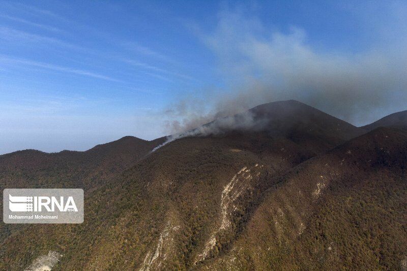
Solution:
<svg viewBox="0 0 407 271"><path fill-rule="evenodd" d="M405 264L406 132L374 130L275 183L234 244L200 268L395 270Z"/></svg>

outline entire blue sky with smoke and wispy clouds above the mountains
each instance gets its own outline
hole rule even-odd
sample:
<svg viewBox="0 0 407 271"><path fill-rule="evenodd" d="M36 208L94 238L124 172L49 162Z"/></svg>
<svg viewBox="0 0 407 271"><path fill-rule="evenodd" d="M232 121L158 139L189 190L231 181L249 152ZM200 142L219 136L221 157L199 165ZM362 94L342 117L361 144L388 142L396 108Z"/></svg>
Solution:
<svg viewBox="0 0 407 271"><path fill-rule="evenodd" d="M401 1L0 1L0 154L154 139L296 99L407 109Z"/></svg>

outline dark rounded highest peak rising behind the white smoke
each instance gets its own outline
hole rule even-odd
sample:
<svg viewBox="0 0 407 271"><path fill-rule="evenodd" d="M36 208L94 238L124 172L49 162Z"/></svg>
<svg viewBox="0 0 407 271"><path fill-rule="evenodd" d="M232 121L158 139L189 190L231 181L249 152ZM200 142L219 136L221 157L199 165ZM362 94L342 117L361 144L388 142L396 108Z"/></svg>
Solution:
<svg viewBox="0 0 407 271"><path fill-rule="evenodd" d="M307 145L317 153L366 133L364 129L295 100L259 105L196 130L193 135L243 134L256 137L264 134L268 138L284 138Z"/></svg>

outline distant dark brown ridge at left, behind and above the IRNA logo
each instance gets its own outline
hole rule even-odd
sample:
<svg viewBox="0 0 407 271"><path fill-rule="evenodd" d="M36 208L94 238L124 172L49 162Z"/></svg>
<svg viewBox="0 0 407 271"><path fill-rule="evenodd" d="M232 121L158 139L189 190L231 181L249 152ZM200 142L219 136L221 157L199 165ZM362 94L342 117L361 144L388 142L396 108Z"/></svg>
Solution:
<svg viewBox="0 0 407 271"><path fill-rule="evenodd" d="M146 156L163 138L123 137L85 152L43 153L21 150L0 156L0 190L5 188L82 188L85 195L114 182L122 171ZM2 196L3 197L3 194ZM3 200L0 201L3 214ZM0 224L0 243L27 225Z"/></svg>

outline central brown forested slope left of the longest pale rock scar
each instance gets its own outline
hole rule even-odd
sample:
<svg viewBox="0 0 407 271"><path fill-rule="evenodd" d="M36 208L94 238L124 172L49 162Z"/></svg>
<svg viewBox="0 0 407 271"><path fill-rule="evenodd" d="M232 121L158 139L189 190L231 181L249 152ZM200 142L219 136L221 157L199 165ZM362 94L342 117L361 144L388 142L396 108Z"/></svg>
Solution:
<svg viewBox="0 0 407 271"><path fill-rule="evenodd" d="M262 173L263 179L312 155L313 150L293 141L259 134L171 142L124 171L115 182L92 190L86 197L83 224L30 225L9 236L0 248L0 258L4 259L0 269L24 268L48 251L63 254L58 266L68 270L78 266L89 270L133 269L140 268L144 260L146 266L154 267L159 261L149 257L155 254L160 232L168 223L181 235L175 247L167 248L172 251L168 252L172 260L162 268L191 267L205 243L205 233L219 214L220 198L214 195L224 189L231 176L245 165L264 161L268 170ZM245 202L250 204L252 199ZM246 213L244 209L242 212ZM34 253L15 244L24 244Z"/></svg>

